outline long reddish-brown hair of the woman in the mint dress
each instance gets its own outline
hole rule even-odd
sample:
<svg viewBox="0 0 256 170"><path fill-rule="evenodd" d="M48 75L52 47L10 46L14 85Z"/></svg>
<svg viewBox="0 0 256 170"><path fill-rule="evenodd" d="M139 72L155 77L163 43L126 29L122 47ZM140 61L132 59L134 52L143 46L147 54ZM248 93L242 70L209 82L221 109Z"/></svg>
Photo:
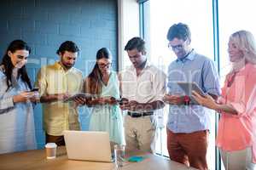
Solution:
<svg viewBox="0 0 256 170"><path fill-rule="evenodd" d="M108 48L101 48L97 51L96 59L111 59L112 54ZM85 92L90 94L100 94L102 92L102 72L99 65L96 63L93 70L87 77L85 84Z"/></svg>

